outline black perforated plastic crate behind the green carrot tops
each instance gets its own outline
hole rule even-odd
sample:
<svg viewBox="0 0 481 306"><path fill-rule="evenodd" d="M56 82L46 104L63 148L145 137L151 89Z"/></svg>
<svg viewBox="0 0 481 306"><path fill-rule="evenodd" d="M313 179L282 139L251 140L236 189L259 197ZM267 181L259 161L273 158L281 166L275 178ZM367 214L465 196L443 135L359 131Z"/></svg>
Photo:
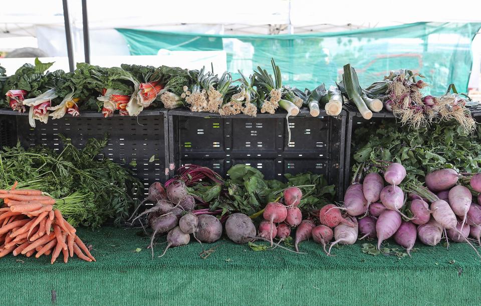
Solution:
<svg viewBox="0 0 481 306"><path fill-rule="evenodd" d="M109 135L108 144L103 154L120 163L129 164L135 159L137 165L129 166L144 185L144 193L154 181L165 182L168 178L168 122L167 111L146 110L138 117L120 117L118 115L103 118L96 112L82 112L79 117L65 116L49 120L47 124L37 122L30 127L27 114L10 110L0 110L0 122L13 123L14 139L9 145L20 140L25 147L45 145L54 150L62 150L63 144L59 134L72 139L73 144L83 148L89 138L103 138ZM5 119L6 118L6 119ZM2 129L0 123L0 131ZM12 133L11 133L12 135ZM2 133L2 144L4 134ZM155 156L153 162L149 162Z"/></svg>

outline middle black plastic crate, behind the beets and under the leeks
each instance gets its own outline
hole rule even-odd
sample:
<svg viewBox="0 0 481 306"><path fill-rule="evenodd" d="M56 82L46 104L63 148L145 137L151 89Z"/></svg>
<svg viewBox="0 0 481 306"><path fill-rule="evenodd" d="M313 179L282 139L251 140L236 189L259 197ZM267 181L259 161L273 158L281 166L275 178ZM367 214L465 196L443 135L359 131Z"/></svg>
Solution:
<svg viewBox="0 0 481 306"><path fill-rule="evenodd" d="M345 111L314 118L301 110L289 118L290 143L285 113L253 118L170 110L168 115L171 176L185 164L206 166L223 176L232 165L249 164L267 179L285 180L285 173L307 171L324 174L343 194Z"/></svg>

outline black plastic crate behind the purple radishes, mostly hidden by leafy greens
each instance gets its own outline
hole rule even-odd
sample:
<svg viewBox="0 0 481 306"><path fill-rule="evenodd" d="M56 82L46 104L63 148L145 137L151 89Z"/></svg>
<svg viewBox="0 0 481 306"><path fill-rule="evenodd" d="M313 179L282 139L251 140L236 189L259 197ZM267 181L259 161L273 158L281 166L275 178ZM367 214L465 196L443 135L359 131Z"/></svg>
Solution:
<svg viewBox="0 0 481 306"><path fill-rule="evenodd" d="M357 111L357 108L353 105L344 105L344 109L347 112L347 128L346 128L346 157L345 157L345 167L344 167L344 190L351 184L351 162L352 162L352 137L354 131L359 127L365 127L369 124L378 124L379 121L383 119L396 120L396 117L391 112L382 110L379 113L372 113L372 118L366 120L362 118L361 113ZM481 123L481 106L469 108L471 115L476 120L477 123ZM399 123L400 124L400 123ZM368 135L366 135L368 137Z"/></svg>

